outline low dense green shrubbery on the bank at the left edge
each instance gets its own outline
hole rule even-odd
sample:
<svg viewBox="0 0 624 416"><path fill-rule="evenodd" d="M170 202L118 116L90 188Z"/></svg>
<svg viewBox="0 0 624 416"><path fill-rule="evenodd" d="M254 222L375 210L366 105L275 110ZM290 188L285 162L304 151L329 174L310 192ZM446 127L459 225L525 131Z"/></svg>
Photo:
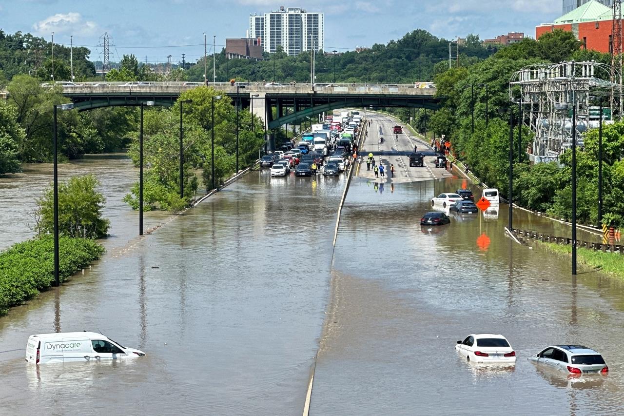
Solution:
<svg viewBox="0 0 624 416"><path fill-rule="evenodd" d="M94 240L59 239L59 279L72 274L104 254ZM22 304L54 283L54 239L50 235L27 240L0 252L0 316L10 306Z"/></svg>

